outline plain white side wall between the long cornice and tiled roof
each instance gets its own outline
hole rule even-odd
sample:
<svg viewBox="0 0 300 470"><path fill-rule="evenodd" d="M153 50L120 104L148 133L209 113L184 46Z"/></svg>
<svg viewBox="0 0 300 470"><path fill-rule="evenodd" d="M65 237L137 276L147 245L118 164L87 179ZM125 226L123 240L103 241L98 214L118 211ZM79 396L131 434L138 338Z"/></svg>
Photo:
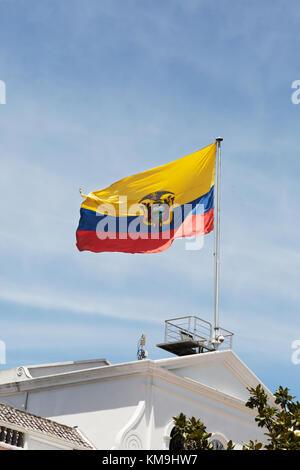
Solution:
<svg viewBox="0 0 300 470"><path fill-rule="evenodd" d="M121 377L29 394L27 411L78 426L100 449L111 448L140 399L143 377Z"/></svg>

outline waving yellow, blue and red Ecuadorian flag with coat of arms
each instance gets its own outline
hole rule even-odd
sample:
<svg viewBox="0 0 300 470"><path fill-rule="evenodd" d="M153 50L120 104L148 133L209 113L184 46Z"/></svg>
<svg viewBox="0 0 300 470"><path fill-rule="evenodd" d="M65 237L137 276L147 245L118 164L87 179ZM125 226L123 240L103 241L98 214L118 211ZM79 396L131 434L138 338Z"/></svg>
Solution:
<svg viewBox="0 0 300 470"><path fill-rule="evenodd" d="M217 143L93 191L80 209L77 248L156 253L214 227Z"/></svg>

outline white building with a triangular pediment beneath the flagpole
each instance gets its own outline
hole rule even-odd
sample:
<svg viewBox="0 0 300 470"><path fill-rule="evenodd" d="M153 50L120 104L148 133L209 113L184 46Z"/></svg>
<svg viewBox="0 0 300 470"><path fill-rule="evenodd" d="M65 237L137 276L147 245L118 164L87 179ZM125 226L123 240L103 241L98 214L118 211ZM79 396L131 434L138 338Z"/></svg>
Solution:
<svg viewBox="0 0 300 470"><path fill-rule="evenodd" d="M239 448L263 439L245 407L247 387L257 384L231 350L114 365L100 359L3 370L0 403L78 426L96 449L168 449L180 412Z"/></svg>

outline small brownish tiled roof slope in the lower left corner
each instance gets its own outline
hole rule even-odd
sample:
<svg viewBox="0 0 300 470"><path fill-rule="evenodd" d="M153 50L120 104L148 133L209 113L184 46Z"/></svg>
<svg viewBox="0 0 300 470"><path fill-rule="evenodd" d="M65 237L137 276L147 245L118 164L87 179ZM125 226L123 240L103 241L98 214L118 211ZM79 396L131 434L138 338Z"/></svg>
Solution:
<svg viewBox="0 0 300 470"><path fill-rule="evenodd" d="M76 448L93 449L91 444L83 438L76 428L28 413L27 411L18 410L3 403L0 403L0 422L15 425L25 431L37 431L45 437L61 439L74 445Z"/></svg>

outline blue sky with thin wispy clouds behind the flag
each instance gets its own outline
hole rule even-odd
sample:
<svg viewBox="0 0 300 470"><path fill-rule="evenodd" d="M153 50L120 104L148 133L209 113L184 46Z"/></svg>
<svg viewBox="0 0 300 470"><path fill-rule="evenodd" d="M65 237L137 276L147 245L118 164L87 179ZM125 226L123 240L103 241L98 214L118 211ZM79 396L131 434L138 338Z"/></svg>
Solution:
<svg viewBox="0 0 300 470"><path fill-rule="evenodd" d="M220 321L274 390L300 391L297 1L0 1L0 313L7 365L149 356L213 317L198 252L79 253L84 192L222 135Z"/></svg>

